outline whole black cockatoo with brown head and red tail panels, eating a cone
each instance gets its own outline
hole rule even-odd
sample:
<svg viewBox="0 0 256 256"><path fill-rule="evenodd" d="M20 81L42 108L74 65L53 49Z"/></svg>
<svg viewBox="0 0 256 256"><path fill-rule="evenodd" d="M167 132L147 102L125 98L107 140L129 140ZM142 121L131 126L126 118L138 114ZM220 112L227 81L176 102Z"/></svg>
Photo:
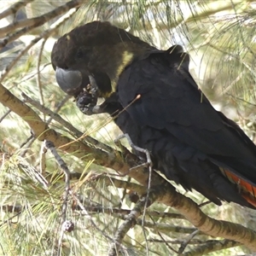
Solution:
<svg viewBox="0 0 256 256"><path fill-rule="evenodd" d="M86 114L113 115L153 167L209 200L256 207L256 147L212 108L189 73L189 55L156 49L108 22L59 38L51 55L61 89ZM96 106L98 97L105 102Z"/></svg>

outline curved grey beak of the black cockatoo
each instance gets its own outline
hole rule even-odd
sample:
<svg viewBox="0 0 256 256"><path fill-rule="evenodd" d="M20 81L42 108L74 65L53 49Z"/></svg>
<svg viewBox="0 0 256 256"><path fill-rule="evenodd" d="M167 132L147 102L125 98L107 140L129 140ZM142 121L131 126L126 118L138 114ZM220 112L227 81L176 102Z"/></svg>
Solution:
<svg viewBox="0 0 256 256"><path fill-rule="evenodd" d="M74 95L81 89L83 76L78 70L65 70L56 67L55 77L61 90L64 90L67 94Z"/></svg>

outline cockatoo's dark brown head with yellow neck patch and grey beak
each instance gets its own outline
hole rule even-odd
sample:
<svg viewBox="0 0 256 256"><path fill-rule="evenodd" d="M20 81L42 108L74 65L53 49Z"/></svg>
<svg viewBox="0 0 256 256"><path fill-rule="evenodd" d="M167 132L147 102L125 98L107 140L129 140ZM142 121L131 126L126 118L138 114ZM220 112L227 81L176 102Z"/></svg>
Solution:
<svg viewBox="0 0 256 256"><path fill-rule="evenodd" d="M108 96L131 61L154 49L129 32L108 22L93 21L58 39L51 54L56 80L76 96L96 79L99 96Z"/></svg>

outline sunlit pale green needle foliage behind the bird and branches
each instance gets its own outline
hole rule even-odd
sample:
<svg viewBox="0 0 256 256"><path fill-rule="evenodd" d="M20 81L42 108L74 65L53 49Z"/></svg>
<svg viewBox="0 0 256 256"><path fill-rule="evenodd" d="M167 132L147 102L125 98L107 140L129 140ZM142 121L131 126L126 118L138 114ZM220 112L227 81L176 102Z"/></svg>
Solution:
<svg viewBox="0 0 256 256"><path fill-rule="evenodd" d="M4 9L16 2L4 1ZM30 2L17 10L15 15L3 17L1 27L2 24L3 27L19 24L19 15L25 15L25 20L32 19L67 3ZM252 1L84 1L61 26L55 26L55 22L68 11L69 8L64 13L56 13L50 19L45 19L42 26L37 26L36 22L21 26L21 29L33 28L20 34L13 42L10 38L20 31L20 27L9 29L2 35L0 28L0 38L9 39L9 44L4 45L0 53L0 80L15 96L21 98L20 94L25 93L44 107L58 112L79 131L115 147L113 138L120 132L111 119L106 115L84 117L71 99L62 102L65 95L57 86L50 65L50 51L56 38L74 26L91 20L108 20L162 49L168 49L172 44L182 44L191 55L190 69L202 90L231 119L239 120L247 134L254 139L256 12ZM38 43L26 48L38 36ZM12 63L14 65L11 67ZM42 119L50 119L41 110L33 109ZM58 121L51 119L49 125L55 131L77 139ZM43 168L45 173L41 173L49 183L49 186L45 186L41 179L34 177L35 173L42 171L39 167L43 155L40 153L41 143L28 139L31 131L26 122L1 106L0 129L0 254L107 255L111 239L125 218L121 210L134 207L127 191L116 188L114 184L106 185L102 180L91 181L91 176L109 170L91 163L86 154L83 160L72 154L62 154L69 170L80 173L79 178L72 180L71 187L79 195L84 208L89 210L83 212L77 200L69 197L67 217L75 224L75 230L65 233L60 249L58 242L65 190L61 168L57 166L55 158L47 154L46 168ZM110 178L107 177L107 180ZM201 195L178 189L199 203L205 201ZM111 209L116 209L116 212ZM231 216L234 222L255 225L255 217L249 210L236 207L237 218L234 218L230 209L234 209L234 206L215 207L210 204L203 208L212 218L222 218L224 215L227 219ZM148 211L177 213L163 205L154 205ZM241 219L239 215L248 218ZM183 218L165 218L147 213L143 220L148 225L137 224L129 230L120 255L146 255L147 252L148 255L174 255L172 249L177 251L180 241L193 230ZM174 230L174 226L177 230ZM191 230L185 232L183 227ZM196 236L195 243L190 244L186 251L200 246L207 239L210 238L205 235ZM246 249L243 250L246 252ZM221 254L209 255L240 252L241 249L232 248L221 251Z"/></svg>

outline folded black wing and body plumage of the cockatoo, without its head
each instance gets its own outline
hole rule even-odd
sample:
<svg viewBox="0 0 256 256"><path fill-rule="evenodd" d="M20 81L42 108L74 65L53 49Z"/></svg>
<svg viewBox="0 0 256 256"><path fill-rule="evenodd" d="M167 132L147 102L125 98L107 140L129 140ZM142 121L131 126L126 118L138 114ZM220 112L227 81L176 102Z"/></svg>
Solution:
<svg viewBox="0 0 256 256"><path fill-rule="evenodd" d="M118 95L127 117L148 132L134 143L151 150L166 177L216 203L219 198L246 205L217 167L248 183L253 194L256 147L238 125L212 108L189 74L189 55L181 47L134 61L119 78Z"/></svg>

